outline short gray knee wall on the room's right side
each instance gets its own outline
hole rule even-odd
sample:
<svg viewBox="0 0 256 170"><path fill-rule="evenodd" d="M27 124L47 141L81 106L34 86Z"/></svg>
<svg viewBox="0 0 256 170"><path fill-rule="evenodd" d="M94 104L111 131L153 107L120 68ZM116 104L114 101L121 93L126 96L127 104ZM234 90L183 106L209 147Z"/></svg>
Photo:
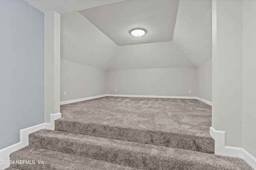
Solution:
<svg viewBox="0 0 256 170"><path fill-rule="evenodd" d="M197 97L212 102L212 60L197 67Z"/></svg>

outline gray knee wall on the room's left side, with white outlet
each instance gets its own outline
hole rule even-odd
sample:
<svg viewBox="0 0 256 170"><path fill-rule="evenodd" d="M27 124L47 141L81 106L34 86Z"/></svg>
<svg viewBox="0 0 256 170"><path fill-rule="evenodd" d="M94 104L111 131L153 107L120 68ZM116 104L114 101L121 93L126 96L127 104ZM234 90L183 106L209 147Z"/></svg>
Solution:
<svg viewBox="0 0 256 170"><path fill-rule="evenodd" d="M105 70L60 59L61 102L103 94L106 94Z"/></svg>

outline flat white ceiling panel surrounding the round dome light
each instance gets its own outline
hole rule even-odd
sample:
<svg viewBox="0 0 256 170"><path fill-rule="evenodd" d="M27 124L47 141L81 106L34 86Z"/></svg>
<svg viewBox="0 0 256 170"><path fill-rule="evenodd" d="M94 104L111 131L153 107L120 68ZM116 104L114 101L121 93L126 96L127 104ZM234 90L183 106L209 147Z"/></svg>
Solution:
<svg viewBox="0 0 256 170"><path fill-rule="evenodd" d="M119 46L172 41L179 0L126 0L79 11ZM134 37L133 28L147 33Z"/></svg>

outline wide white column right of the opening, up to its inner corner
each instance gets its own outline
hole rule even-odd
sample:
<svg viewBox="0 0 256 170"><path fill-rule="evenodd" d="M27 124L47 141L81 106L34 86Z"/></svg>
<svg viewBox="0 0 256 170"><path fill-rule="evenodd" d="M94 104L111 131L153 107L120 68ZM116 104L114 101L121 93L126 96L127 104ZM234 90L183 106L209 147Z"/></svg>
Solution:
<svg viewBox="0 0 256 170"><path fill-rule="evenodd" d="M212 127L242 147L242 0L213 0Z"/></svg>

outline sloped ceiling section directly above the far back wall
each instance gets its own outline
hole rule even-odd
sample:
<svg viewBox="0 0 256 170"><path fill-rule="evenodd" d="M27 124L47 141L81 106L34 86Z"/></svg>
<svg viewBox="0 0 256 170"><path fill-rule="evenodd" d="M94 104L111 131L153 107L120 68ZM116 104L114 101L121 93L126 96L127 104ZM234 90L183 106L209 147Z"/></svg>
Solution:
<svg viewBox="0 0 256 170"><path fill-rule="evenodd" d="M118 47L110 70L194 66L173 42Z"/></svg>

